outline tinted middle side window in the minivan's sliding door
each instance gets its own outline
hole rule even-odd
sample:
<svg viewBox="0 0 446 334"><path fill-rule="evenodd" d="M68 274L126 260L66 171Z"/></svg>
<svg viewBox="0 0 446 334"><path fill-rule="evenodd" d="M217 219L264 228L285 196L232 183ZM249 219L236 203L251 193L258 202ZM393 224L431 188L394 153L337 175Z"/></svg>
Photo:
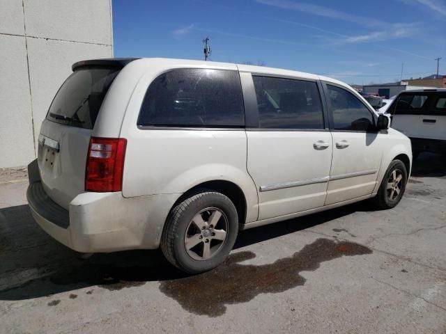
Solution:
<svg viewBox="0 0 446 334"><path fill-rule="evenodd" d="M315 82L253 76L263 129L323 129Z"/></svg>

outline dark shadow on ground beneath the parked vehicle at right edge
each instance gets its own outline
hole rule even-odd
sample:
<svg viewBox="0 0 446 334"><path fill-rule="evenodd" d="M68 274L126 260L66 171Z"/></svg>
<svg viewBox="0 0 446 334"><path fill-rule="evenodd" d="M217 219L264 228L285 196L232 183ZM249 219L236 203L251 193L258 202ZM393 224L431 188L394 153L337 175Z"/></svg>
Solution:
<svg viewBox="0 0 446 334"><path fill-rule="evenodd" d="M412 163L411 175L415 177L446 176L446 155L421 153Z"/></svg>

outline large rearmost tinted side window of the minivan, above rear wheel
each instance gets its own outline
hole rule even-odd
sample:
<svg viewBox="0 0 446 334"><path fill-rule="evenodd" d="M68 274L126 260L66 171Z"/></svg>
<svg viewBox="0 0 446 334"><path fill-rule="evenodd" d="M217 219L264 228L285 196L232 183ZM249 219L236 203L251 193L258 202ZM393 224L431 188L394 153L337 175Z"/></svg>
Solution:
<svg viewBox="0 0 446 334"><path fill-rule="evenodd" d="M138 125L243 127L238 72L178 69L161 74L147 90Z"/></svg>

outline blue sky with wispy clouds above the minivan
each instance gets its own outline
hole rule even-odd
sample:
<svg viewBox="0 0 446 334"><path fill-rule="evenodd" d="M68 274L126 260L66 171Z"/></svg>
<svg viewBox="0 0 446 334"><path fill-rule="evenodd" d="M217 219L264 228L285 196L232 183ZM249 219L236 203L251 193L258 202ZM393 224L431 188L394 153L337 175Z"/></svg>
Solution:
<svg viewBox="0 0 446 334"><path fill-rule="evenodd" d="M376 84L446 74L446 0L113 0L114 56L261 61Z"/></svg>

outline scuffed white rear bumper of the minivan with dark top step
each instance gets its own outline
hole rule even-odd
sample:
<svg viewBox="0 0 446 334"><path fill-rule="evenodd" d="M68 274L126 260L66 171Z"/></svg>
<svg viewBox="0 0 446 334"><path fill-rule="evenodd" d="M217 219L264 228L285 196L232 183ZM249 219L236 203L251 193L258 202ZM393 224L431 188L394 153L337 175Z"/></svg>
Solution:
<svg viewBox="0 0 446 334"><path fill-rule="evenodd" d="M29 169L36 168L33 163ZM167 214L179 196L124 198L121 192L87 192L66 210L47 196L35 170L29 175L26 197L33 218L54 239L81 253L158 248Z"/></svg>

